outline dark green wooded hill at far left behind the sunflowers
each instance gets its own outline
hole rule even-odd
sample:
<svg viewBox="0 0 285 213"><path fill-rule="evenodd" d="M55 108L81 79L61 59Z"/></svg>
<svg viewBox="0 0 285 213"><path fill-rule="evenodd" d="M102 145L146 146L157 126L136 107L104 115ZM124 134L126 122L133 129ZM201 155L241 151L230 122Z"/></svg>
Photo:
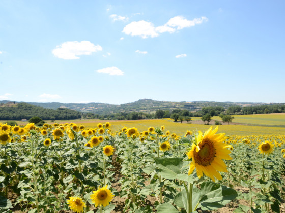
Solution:
<svg viewBox="0 0 285 213"><path fill-rule="evenodd" d="M28 103L0 107L0 120L29 120L34 116L44 120L69 120L81 118L81 113L66 108L46 109Z"/></svg>

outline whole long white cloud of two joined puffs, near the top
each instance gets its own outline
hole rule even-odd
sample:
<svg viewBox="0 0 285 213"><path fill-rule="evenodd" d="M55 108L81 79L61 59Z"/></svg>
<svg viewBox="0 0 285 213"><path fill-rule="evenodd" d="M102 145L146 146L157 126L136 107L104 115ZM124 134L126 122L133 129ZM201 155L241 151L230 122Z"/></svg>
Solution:
<svg viewBox="0 0 285 213"><path fill-rule="evenodd" d="M169 21L162 25L155 27L152 22L148 21L133 21L126 25L122 32L131 36L140 36L143 39L158 37L159 33L169 32L173 33L177 30L181 30L186 27L193 27L196 24L202 24L206 22L207 17L202 16L201 18L194 18L193 20L187 20L183 16L175 16Z"/></svg>

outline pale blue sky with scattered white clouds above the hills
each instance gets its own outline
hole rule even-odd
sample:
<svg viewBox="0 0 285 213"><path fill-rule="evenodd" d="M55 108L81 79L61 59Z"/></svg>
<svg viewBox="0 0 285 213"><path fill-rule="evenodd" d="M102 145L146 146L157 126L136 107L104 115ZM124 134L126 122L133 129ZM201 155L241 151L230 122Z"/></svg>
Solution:
<svg viewBox="0 0 285 213"><path fill-rule="evenodd" d="M0 1L0 100L285 102L284 1Z"/></svg>

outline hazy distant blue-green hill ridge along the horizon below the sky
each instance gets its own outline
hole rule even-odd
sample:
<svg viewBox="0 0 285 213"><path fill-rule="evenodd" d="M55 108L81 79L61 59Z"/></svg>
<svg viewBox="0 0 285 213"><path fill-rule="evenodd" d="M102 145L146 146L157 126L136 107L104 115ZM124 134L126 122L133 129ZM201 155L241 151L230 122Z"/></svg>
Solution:
<svg viewBox="0 0 285 213"><path fill-rule="evenodd" d="M9 103L21 103L16 101L2 100L0 104ZM144 112L154 113L156 110L169 110L174 109L198 111L202 107L224 107L227 109L231 105L240 106L252 106L252 105L267 105L268 103L251 103L251 102L215 102L215 101L157 101L152 99L140 99L135 102L125 104L108 104L108 103L60 103L60 102L49 102L49 103L38 103L38 102L26 102L32 105L36 105L48 109L68 108L71 110L77 110L80 112L91 112L99 115L106 115L112 113L130 113L130 112ZM270 103L276 104L276 103ZM268 104L268 105L270 105ZM277 103L278 104L278 103Z"/></svg>

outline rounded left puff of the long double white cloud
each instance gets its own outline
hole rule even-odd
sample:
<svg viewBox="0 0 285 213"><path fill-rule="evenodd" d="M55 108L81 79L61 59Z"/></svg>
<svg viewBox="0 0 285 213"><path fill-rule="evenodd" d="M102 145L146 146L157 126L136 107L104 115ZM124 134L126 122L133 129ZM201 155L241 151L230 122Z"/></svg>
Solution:
<svg viewBox="0 0 285 213"><path fill-rule="evenodd" d="M147 21L133 21L124 27L123 32L127 35L143 37L143 39L159 35L153 23Z"/></svg>

